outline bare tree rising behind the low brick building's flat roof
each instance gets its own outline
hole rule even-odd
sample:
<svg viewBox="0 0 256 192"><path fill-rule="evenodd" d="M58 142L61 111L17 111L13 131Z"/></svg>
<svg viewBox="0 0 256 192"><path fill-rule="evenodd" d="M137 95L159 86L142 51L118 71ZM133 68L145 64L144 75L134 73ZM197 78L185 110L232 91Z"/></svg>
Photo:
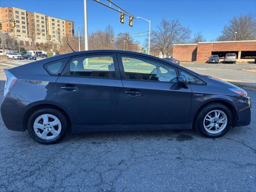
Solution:
<svg viewBox="0 0 256 192"><path fill-rule="evenodd" d="M217 38L218 41L236 40L256 40L256 19L254 14L240 14L234 16L227 25L224 26L222 34Z"/></svg>

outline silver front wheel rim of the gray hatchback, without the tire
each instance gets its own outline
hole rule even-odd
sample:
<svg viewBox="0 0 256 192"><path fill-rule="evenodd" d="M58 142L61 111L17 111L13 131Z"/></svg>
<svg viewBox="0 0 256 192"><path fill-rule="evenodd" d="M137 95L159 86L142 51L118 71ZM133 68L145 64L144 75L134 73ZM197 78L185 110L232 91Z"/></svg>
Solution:
<svg viewBox="0 0 256 192"><path fill-rule="evenodd" d="M204 117L204 129L212 134L224 130L228 124L228 117L221 110L212 110Z"/></svg>

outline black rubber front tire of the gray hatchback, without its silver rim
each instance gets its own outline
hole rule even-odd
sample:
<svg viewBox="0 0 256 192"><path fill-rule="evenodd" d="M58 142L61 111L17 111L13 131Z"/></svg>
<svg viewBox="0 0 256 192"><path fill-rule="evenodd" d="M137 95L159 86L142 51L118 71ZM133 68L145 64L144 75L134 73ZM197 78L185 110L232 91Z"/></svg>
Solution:
<svg viewBox="0 0 256 192"><path fill-rule="evenodd" d="M206 114L208 114L212 110L221 110L226 114L226 116L228 118L228 124L226 125L224 130L222 130L221 132L219 132L217 134L211 134L204 129L204 124L203 124L204 117L206 116ZM230 112L230 110L227 106L225 106L223 104L212 103L212 104L209 104L206 107L204 107L202 110L200 110L200 112L198 113L198 118L196 120L196 127L197 127L198 131L203 136L208 137L208 138L218 138L218 137L221 137L224 134L226 134L226 132L228 132L228 130L232 126L232 121L233 121L232 113Z"/></svg>

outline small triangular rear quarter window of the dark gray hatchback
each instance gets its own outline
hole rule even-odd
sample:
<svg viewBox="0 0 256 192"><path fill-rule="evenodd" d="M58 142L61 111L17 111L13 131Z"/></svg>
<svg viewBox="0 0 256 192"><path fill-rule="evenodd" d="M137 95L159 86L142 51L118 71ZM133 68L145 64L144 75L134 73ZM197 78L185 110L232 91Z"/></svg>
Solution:
<svg viewBox="0 0 256 192"><path fill-rule="evenodd" d="M60 75L70 57L52 61L44 64L45 70L51 75Z"/></svg>

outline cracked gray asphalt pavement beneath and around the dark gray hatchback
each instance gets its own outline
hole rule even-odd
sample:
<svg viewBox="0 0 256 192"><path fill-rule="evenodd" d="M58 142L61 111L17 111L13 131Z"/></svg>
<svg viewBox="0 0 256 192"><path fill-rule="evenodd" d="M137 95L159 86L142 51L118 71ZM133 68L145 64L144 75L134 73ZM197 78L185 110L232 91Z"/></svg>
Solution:
<svg viewBox="0 0 256 192"><path fill-rule="evenodd" d="M0 98L6 77L0 69ZM222 138L194 130L67 134L54 145L0 119L0 191L256 191L256 92L252 122Z"/></svg>

